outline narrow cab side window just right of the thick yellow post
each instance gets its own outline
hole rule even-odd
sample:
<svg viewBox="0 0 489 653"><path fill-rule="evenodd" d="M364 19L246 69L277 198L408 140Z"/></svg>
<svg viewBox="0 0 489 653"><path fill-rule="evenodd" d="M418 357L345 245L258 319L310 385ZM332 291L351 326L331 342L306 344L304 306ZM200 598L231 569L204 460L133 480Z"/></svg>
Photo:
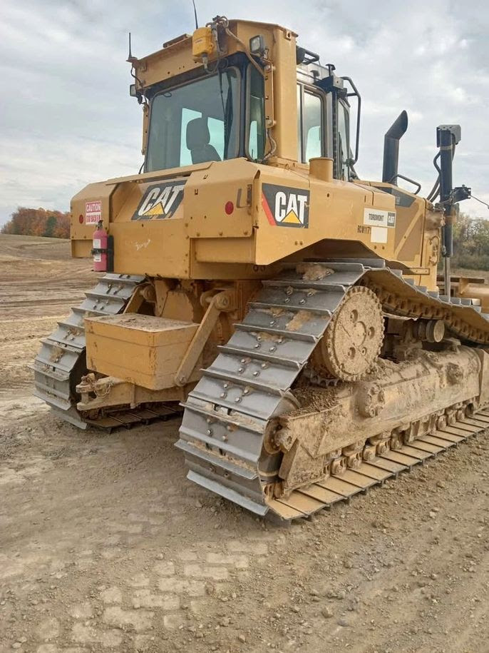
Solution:
<svg viewBox="0 0 489 653"><path fill-rule="evenodd" d="M321 96L297 85L297 161L324 156L324 121Z"/></svg>

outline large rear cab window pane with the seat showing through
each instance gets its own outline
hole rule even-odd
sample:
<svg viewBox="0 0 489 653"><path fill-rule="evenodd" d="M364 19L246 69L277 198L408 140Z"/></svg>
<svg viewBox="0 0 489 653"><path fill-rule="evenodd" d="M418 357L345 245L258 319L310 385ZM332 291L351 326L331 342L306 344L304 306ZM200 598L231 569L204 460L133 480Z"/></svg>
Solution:
<svg viewBox="0 0 489 653"><path fill-rule="evenodd" d="M237 156L238 72L227 69L155 95L146 171Z"/></svg>

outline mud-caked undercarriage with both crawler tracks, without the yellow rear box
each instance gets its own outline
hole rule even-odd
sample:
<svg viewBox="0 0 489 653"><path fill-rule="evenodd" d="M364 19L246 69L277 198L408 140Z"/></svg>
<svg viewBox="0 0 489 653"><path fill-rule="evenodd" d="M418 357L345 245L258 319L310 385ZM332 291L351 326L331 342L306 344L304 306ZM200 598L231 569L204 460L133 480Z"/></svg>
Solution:
<svg viewBox="0 0 489 653"><path fill-rule="evenodd" d="M232 299L221 291L216 308L209 293L214 313L202 309L197 330L217 329L225 344L197 376L196 357L184 357L181 383L164 390L86 369L83 318L150 313L150 282L105 275L44 342L36 392L81 427L149 422L181 402L189 479L258 515L310 515L489 424L480 307L426 292L381 261L284 267L251 294L230 337L218 318Z"/></svg>

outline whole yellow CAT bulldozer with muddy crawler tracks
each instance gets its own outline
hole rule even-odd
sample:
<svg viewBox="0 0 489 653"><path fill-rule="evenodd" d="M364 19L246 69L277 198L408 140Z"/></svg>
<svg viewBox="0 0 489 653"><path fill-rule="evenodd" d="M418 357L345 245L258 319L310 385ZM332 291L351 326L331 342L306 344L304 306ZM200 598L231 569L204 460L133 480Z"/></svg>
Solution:
<svg viewBox="0 0 489 653"><path fill-rule="evenodd" d="M406 112L359 178L359 91L289 29L216 16L128 61L144 162L71 201L99 274L34 362L55 415L177 415L190 481L285 522L485 430L488 288L450 266L460 127L424 198Z"/></svg>

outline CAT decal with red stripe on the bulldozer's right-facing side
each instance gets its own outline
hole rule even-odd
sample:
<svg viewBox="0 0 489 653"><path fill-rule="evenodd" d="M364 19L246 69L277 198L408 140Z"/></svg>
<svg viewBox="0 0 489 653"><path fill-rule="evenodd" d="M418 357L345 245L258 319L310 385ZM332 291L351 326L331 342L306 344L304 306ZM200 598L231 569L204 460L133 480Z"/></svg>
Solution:
<svg viewBox="0 0 489 653"><path fill-rule="evenodd" d="M272 226L309 226L309 191L302 188L262 184L262 207Z"/></svg>

